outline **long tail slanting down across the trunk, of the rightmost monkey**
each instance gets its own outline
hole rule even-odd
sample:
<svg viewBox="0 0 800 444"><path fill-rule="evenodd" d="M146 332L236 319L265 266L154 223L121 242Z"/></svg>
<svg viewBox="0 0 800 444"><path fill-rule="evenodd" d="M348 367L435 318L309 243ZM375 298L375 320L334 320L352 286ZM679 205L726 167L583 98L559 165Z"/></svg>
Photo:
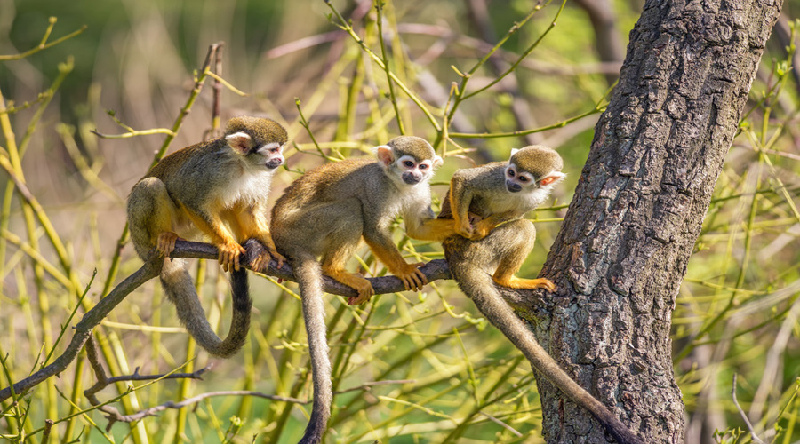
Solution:
<svg viewBox="0 0 800 444"><path fill-rule="evenodd" d="M558 367L556 361L533 337L532 331L525 327L524 322L500 296L500 292L494 287L494 281L489 274L479 267L458 262L451 263L450 270L461 290L472 298L478 310L484 313L492 325L500 329L516 345L516 348L531 362L533 369L547 377L573 402L586 408L600 424L603 424L605 430L610 432L617 442L620 444L644 444L644 441L631 432L625 424L622 424L620 419L613 415L603 403L596 400ZM469 292L471 294L465 289L472 289ZM508 320L508 322L499 324L497 320Z"/></svg>

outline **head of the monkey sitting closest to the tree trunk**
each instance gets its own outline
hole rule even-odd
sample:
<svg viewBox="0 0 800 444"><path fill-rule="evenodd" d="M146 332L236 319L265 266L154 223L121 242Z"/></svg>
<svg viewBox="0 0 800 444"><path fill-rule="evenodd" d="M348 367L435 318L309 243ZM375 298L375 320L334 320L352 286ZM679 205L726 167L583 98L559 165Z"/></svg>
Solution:
<svg viewBox="0 0 800 444"><path fill-rule="evenodd" d="M566 176L562 168L564 161L552 148L531 145L512 149L506 167L506 189L511 193L549 190Z"/></svg>

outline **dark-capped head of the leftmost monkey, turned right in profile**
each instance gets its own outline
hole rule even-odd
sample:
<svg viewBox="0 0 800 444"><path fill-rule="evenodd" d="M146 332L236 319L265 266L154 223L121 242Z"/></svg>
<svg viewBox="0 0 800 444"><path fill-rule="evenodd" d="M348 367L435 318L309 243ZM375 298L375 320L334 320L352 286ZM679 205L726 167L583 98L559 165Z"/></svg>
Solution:
<svg viewBox="0 0 800 444"><path fill-rule="evenodd" d="M242 115L228 120L225 140L249 161L275 170L284 163L286 130L274 120Z"/></svg>

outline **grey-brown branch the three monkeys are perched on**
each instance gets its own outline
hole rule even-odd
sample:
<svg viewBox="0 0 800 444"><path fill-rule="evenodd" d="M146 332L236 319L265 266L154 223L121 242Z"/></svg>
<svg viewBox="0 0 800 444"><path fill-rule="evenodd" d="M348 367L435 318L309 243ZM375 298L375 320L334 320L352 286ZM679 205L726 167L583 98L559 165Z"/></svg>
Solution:
<svg viewBox="0 0 800 444"><path fill-rule="evenodd" d="M244 247L247 252L244 254L243 265L245 268L252 269L252 261L259 258L263 253L264 247L260 242L248 241L244 242ZM175 249L172 250L170 255L172 258L201 258L216 260L219 257L219 252L216 247L208 243L201 242L188 242L177 241L175 242ZM20 396L20 393L27 392L36 385L42 383L45 379L67 369L68 365L75 361L77 354L84 348L86 341L92 335L92 330L100 325L100 322L111 313L111 310L119 305L134 289L139 288L142 284L153 279L161 273L161 267L164 264L163 259L156 254L150 254L150 258L139 270L128 276L124 281L120 282L114 289L108 293L108 296L100 299L97 305L94 305L92 310L84 314L84 317L75 327L75 335L67 345L61 355L52 361L43 369L36 371L20 382L15 383L13 386L3 387L0 389L0 401L7 400L12 397ZM436 281L439 279L452 279L450 269L447 262L442 259L437 259L428 262L425 266L420 267L423 274L428 277L428 282ZM296 281L292 273L292 266L284 263L283 266L277 267L275 260L269 262L267 270L258 270L261 273L269 274L285 281ZM372 283L372 288L375 289L375 294L395 293L398 291L405 291L403 281L395 276L382 276L377 278L368 278ZM328 276L324 276L323 289L325 292L340 295L344 297L357 296L356 290L348 286L334 281ZM504 296L505 293L504 293ZM511 302L511 301L509 301ZM512 303L513 304L513 303ZM13 390L12 390L13 389Z"/></svg>

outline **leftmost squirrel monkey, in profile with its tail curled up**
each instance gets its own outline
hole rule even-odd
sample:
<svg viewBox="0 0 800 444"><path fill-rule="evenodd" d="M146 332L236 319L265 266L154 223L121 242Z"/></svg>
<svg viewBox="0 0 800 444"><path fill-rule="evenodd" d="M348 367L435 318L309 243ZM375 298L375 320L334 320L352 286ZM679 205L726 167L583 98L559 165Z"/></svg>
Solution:
<svg viewBox="0 0 800 444"><path fill-rule="evenodd" d="M225 136L185 147L167 155L131 190L128 224L133 247L142 260L149 251L169 258L179 235L204 234L220 250L220 265L231 271L233 316L225 340L205 319L194 282L180 259L164 260L161 283L175 305L178 318L197 344L222 358L244 345L250 329L252 300L247 274L240 269L244 248L239 242L255 239L267 250L252 266L267 266L270 256L278 266L285 258L275 249L266 220L269 185L282 154L286 131L280 124L255 117L228 121Z"/></svg>

